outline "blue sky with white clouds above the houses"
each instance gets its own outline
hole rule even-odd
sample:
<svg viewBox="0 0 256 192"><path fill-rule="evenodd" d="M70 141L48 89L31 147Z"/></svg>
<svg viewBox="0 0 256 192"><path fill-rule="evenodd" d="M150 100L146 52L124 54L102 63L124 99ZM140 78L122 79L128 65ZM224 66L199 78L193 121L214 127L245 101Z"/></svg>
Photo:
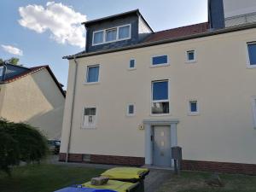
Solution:
<svg viewBox="0 0 256 192"><path fill-rule="evenodd" d="M1 0L0 8L0 58L18 57L25 67L47 64L65 85L62 56L84 49L80 21L132 9L140 9L155 32L207 21L207 0Z"/></svg>

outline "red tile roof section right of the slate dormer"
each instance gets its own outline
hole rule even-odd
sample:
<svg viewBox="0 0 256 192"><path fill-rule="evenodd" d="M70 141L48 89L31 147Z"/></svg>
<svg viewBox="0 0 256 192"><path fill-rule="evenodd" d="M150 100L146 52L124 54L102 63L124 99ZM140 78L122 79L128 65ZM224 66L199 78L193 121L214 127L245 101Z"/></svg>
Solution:
<svg viewBox="0 0 256 192"><path fill-rule="evenodd" d="M194 35L202 32L207 32L209 29L209 24L199 23L192 26L182 26L174 29L169 29L160 32L154 32L148 38L146 38L143 43L149 43L154 41L172 39L172 38L181 38L189 35Z"/></svg>

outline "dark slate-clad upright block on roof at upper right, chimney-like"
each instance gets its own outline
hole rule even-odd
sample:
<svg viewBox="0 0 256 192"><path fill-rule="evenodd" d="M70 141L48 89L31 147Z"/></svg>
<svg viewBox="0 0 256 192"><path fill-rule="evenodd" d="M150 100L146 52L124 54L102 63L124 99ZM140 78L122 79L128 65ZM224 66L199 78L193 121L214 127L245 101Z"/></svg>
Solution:
<svg viewBox="0 0 256 192"><path fill-rule="evenodd" d="M208 0L208 21L211 30L225 27L223 0Z"/></svg>

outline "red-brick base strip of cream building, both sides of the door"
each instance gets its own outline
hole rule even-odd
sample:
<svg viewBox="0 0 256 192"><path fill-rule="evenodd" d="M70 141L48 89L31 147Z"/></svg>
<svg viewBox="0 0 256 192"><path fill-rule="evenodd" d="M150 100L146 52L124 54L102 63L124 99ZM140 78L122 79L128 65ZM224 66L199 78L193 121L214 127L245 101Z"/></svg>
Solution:
<svg viewBox="0 0 256 192"><path fill-rule="evenodd" d="M59 160L65 161L66 154L60 154ZM119 166L143 166L145 164L145 159L143 157L113 156L101 154L90 154L89 161L83 160L83 154L69 154L68 161ZM256 175L256 165L254 164L183 160L182 169L190 171L227 172Z"/></svg>

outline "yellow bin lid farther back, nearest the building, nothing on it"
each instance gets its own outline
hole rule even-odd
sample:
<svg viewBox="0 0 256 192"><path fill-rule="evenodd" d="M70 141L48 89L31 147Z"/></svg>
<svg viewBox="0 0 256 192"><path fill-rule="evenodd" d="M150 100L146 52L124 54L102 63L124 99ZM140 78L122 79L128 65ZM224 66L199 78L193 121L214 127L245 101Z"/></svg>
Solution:
<svg viewBox="0 0 256 192"><path fill-rule="evenodd" d="M149 170L146 168L116 167L103 172L102 176L110 179L139 179L148 174L148 172Z"/></svg>

